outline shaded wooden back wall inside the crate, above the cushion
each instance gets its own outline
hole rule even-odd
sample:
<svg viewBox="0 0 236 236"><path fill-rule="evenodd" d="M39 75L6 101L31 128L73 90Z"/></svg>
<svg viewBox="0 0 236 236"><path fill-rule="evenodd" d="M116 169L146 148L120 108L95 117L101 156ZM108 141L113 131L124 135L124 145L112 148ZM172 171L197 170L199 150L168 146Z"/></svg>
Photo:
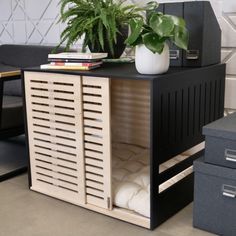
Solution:
<svg viewBox="0 0 236 236"><path fill-rule="evenodd" d="M150 83L112 80L112 140L150 147Z"/></svg>

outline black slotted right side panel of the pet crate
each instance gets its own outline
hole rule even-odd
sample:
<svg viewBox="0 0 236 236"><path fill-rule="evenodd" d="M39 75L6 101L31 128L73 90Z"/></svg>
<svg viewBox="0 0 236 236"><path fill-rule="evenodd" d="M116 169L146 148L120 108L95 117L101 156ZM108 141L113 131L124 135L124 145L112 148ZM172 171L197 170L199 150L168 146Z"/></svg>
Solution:
<svg viewBox="0 0 236 236"><path fill-rule="evenodd" d="M193 174L162 193L158 186L202 156L200 151L159 174L159 165L204 140L203 125L223 116L225 65L169 75L152 83L151 104L151 229L193 199Z"/></svg>

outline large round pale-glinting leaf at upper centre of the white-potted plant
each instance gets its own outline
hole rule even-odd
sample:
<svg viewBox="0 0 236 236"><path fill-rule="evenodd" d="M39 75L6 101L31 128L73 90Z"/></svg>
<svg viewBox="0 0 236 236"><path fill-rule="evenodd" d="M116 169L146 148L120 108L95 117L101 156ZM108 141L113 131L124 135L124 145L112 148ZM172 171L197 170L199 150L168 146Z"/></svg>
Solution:
<svg viewBox="0 0 236 236"><path fill-rule="evenodd" d="M149 23L153 31L161 37L171 36L174 29L173 20L166 15L153 14Z"/></svg>

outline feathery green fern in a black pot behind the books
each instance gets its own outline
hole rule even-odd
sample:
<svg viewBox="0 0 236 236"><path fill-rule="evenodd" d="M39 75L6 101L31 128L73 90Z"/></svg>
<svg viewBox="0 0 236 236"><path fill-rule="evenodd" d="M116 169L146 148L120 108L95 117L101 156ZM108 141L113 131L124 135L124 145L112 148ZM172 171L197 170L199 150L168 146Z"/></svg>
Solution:
<svg viewBox="0 0 236 236"><path fill-rule="evenodd" d="M108 52L118 58L123 53L130 19L141 18L143 10L126 0L61 0L60 22L67 26L61 33L66 50L84 36L82 51ZM59 46L60 46L59 45Z"/></svg>

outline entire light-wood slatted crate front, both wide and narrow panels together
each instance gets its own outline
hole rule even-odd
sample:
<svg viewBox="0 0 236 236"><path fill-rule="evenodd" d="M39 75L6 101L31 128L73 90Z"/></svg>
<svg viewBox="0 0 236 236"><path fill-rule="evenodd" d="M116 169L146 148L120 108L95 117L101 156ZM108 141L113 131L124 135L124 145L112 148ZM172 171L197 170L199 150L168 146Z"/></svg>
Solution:
<svg viewBox="0 0 236 236"><path fill-rule="evenodd" d="M32 189L112 209L107 78L25 72Z"/></svg>

